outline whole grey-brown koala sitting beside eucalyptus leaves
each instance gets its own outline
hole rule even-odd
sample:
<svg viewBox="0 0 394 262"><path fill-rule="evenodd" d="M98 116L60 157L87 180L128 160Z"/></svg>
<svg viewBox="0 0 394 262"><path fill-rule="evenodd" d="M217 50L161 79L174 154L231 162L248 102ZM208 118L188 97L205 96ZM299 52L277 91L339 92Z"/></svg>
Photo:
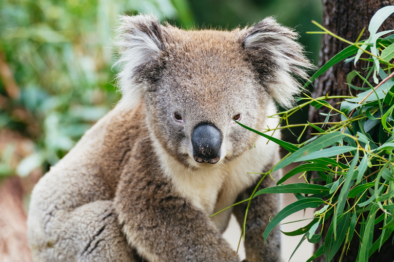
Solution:
<svg viewBox="0 0 394 262"><path fill-rule="evenodd" d="M297 34L270 17L232 31L143 14L121 23L123 96L35 186L33 260L239 262L222 232L232 213L243 224L247 203L211 215L249 198L280 160L278 145L235 121L278 126L275 101L291 106L311 68ZM251 201L248 261L280 261L279 230L262 237L278 207L273 194Z"/></svg>

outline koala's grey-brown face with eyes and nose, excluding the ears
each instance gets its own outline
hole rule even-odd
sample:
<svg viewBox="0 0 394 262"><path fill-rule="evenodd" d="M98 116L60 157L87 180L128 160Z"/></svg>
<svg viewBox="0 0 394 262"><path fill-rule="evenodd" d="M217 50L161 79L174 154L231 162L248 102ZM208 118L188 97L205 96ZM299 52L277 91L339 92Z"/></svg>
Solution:
<svg viewBox="0 0 394 262"><path fill-rule="evenodd" d="M253 145L269 95L240 53L235 33L178 35L145 93L147 120L167 152L189 166L226 162Z"/></svg>

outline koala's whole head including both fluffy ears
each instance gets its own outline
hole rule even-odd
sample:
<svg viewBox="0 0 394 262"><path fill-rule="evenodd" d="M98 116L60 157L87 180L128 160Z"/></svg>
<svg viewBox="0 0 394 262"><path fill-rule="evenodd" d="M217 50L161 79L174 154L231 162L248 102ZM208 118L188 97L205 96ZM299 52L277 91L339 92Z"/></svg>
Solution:
<svg viewBox="0 0 394 262"><path fill-rule="evenodd" d="M257 137L272 98L293 103L311 64L292 30L266 18L233 31L185 31L149 15L123 16L119 107L142 101L155 141L189 167L225 163Z"/></svg>

